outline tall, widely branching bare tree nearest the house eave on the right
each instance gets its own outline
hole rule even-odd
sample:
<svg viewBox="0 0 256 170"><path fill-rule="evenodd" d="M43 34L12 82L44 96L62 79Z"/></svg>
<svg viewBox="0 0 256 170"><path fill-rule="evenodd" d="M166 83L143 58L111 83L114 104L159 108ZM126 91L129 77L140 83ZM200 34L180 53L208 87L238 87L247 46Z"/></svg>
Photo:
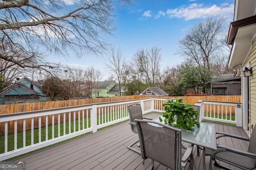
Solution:
<svg viewBox="0 0 256 170"><path fill-rule="evenodd" d="M219 39L223 30L222 19L213 20L208 18L205 22L200 22L179 41L178 54L187 57L198 66L204 66L210 70L210 57L223 47Z"/></svg>

